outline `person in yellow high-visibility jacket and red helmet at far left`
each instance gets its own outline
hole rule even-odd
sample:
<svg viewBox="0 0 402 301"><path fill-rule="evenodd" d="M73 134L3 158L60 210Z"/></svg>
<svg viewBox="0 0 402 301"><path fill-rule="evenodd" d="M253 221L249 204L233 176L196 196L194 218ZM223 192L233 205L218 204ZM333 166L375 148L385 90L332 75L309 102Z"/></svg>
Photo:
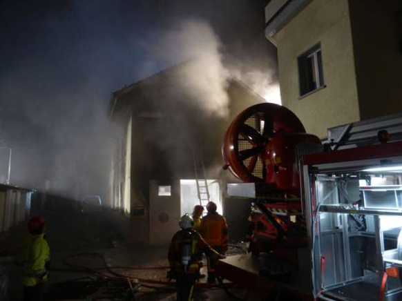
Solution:
<svg viewBox="0 0 402 301"><path fill-rule="evenodd" d="M39 216L32 217L23 246L23 301L43 299L50 264L50 248L44 238L45 232L46 220Z"/></svg>

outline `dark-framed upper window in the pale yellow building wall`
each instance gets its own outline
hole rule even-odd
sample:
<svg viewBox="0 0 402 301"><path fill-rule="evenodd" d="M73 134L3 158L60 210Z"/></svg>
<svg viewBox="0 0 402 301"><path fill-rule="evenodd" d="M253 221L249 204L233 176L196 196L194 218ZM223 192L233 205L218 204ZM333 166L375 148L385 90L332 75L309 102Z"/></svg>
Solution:
<svg viewBox="0 0 402 301"><path fill-rule="evenodd" d="M324 88L323 59L321 57L320 43L298 57L298 76L300 97L314 90Z"/></svg>

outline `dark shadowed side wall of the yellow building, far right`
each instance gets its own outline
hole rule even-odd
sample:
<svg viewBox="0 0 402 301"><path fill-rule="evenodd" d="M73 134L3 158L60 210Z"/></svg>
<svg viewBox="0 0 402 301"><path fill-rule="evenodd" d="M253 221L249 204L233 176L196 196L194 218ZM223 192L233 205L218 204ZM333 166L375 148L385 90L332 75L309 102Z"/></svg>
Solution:
<svg viewBox="0 0 402 301"><path fill-rule="evenodd" d="M401 0L350 0L361 119L402 112Z"/></svg>

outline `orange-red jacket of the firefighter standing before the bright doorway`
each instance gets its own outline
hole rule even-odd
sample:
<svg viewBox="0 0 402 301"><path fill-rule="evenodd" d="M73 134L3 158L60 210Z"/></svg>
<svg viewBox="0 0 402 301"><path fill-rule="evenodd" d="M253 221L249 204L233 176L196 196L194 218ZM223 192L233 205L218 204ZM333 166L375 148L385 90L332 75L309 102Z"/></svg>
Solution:
<svg viewBox="0 0 402 301"><path fill-rule="evenodd" d="M208 213L202 217L201 234L212 247L227 246L229 235L226 220L218 213Z"/></svg>

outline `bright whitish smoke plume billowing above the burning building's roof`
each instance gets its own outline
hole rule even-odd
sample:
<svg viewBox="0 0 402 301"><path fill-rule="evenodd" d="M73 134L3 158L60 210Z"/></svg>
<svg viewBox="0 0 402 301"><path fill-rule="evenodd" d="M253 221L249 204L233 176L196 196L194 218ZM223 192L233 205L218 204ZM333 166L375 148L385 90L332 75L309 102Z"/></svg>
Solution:
<svg viewBox="0 0 402 301"><path fill-rule="evenodd" d="M148 39L142 42L150 57L143 63L144 73L149 73L147 66L173 66L189 61L180 69L177 88L186 90L189 99L205 112L218 117L227 116L230 79L243 81L268 102L281 103L275 70L250 70L244 62L227 55L218 33L206 19L175 21L168 30L157 32L156 36L157 41ZM244 58L247 61L246 52Z"/></svg>

